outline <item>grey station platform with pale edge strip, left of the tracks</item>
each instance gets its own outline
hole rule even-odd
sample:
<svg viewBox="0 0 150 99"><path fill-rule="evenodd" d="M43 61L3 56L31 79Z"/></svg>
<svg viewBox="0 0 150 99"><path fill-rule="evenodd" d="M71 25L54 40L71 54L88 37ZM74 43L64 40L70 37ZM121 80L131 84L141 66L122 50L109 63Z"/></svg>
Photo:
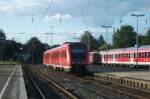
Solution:
<svg viewBox="0 0 150 99"><path fill-rule="evenodd" d="M0 65L0 99L27 99L21 65Z"/></svg>

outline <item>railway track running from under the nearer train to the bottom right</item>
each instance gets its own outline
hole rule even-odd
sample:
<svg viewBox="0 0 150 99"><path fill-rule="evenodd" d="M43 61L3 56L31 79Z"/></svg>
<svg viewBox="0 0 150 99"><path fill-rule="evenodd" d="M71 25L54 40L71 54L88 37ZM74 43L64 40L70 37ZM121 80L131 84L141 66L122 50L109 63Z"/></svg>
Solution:
<svg viewBox="0 0 150 99"><path fill-rule="evenodd" d="M149 99L150 97L149 92L144 92L142 90L137 90L127 86L113 84L111 82L103 80L96 80L93 77L76 77L53 70L51 72L44 72L43 69L44 68L38 68L36 71L39 71L40 73L43 73L43 75L45 75L46 77L53 79L65 89L70 90L71 92L79 96L79 98L88 98L90 97L90 95L91 97L93 97L92 99L97 97L109 99ZM68 82L65 82L65 79L68 79ZM76 82L78 82L79 84L76 84ZM79 91L78 88L80 88L80 91L82 93L84 92L84 95L76 93L76 90ZM88 97L85 97L86 95Z"/></svg>

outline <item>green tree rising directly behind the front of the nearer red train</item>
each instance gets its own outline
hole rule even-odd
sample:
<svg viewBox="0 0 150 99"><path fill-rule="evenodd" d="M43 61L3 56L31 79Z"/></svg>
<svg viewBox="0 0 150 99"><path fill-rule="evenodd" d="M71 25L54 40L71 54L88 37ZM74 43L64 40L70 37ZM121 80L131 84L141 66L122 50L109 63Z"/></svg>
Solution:
<svg viewBox="0 0 150 99"><path fill-rule="evenodd" d="M84 31L84 34L80 37L80 42L89 45L90 50L97 50L99 43L96 38L94 38L89 31Z"/></svg>

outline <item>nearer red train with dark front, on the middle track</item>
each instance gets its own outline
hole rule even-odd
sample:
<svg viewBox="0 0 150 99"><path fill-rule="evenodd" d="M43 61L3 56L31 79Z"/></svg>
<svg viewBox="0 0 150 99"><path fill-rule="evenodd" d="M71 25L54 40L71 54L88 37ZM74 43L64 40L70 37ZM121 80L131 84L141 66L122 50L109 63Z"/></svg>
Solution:
<svg viewBox="0 0 150 99"><path fill-rule="evenodd" d="M68 42L44 52L43 64L65 72L85 72L88 64L86 45Z"/></svg>

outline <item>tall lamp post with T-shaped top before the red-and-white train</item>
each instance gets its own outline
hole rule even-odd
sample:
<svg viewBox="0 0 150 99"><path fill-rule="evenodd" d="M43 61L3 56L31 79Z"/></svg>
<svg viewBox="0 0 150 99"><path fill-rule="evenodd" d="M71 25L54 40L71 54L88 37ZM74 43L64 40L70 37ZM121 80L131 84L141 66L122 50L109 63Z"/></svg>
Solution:
<svg viewBox="0 0 150 99"><path fill-rule="evenodd" d="M145 16L144 14L131 14L131 16L136 17L136 28L137 28L137 33L136 33L136 65L138 65L138 42L139 42L139 38L138 38L138 19L139 17Z"/></svg>

